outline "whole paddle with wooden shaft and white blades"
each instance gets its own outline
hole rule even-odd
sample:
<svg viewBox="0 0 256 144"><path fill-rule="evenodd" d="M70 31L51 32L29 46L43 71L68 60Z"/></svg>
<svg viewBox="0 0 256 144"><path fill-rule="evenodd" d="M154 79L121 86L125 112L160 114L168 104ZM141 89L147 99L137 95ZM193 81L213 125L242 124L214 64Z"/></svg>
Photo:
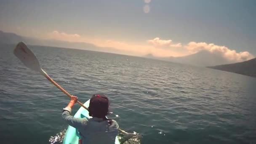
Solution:
<svg viewBox="0 0 256 144"><path fill-rule="evenodd" d="M20 42L16 45L16 48L14 48L13 51L14 55L29 69L40 72L41 75L46 77L48 80L53 83L56 87L58 87L63 93L65 93L69 98L71 98L71 95L65 91L63 88L61 88L60 85L58 85L47 73L40 67L40 63L35 56L35 54L27 47L27 45L23 42ZM78 104L80 104L83 108L87 109L80 101L77 101ZM126 133L125 131L121 130L119 128L119 131L123 133L126 139L130 139L133 136L137 136L136 134L133 133Z"/></svg>

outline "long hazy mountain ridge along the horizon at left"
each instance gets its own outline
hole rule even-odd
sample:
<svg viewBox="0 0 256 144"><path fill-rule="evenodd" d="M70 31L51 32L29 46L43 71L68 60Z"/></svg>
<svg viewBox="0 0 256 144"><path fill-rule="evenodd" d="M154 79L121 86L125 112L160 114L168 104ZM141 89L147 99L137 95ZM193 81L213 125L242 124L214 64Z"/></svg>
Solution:
<svg viewBox="0 0 256 144"><path fill-rule="evenodd" d="M121 53L116 48L109 47L98 47L91 43L72 43L61 40L39 40L31 37L23 37L10 32L0 31L0 43L17 44L23 41L29 45L43 45L43 46L54 46L60 48L77 48L89 51L102 51L109 53Z"/></svg>

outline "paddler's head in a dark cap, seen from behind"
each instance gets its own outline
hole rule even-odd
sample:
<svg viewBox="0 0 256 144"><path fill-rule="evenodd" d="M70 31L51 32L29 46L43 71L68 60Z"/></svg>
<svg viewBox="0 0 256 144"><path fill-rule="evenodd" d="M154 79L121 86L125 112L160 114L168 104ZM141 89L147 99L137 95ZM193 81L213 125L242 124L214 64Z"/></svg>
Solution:
<svg viewBox="0 0 256 144"><path fill-rule="evenodd" d="M106 119L109 112L109 99L102 94L94 94L90 99L89 115L91 117L98 117Z"/></svg>

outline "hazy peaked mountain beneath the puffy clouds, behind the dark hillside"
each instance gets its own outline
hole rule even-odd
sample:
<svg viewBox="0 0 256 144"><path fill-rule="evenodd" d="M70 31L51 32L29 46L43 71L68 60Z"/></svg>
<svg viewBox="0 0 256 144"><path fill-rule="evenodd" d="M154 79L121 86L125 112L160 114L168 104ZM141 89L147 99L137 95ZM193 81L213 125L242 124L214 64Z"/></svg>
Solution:
<svg viewBox="0 0 256 144"><path fill-rule="evenodd" d="M195 54L191 54L188 56L181 56L181 57L163 58L163 57L154 57L152 56L152 54L147 54L146 57L150 59L159 59L163 61L171 61L175 63L189 64L189 65L195 65L200 67L232 63L231 61L228 61L227 59L223 58L221 55L217 53L211 53L209 51L200 51Z"/></svg>

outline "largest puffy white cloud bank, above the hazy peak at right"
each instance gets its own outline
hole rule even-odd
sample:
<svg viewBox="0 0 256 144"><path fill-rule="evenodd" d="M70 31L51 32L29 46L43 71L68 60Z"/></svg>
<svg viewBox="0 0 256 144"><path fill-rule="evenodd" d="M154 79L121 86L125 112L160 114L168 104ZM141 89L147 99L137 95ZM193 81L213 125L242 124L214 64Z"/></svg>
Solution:
<svg viewBox="0 0 256 144"><path fill-rule="evenodd" d="M237 53L235 50L231 50L225 46L215 45L213 43L207 44L190 42L185 46L185 48L187 48L189 53L197 53L203 50L210 51L211 53L218 53L232 62L246 61L254 58L254 56L248 51Z"/></svg>

